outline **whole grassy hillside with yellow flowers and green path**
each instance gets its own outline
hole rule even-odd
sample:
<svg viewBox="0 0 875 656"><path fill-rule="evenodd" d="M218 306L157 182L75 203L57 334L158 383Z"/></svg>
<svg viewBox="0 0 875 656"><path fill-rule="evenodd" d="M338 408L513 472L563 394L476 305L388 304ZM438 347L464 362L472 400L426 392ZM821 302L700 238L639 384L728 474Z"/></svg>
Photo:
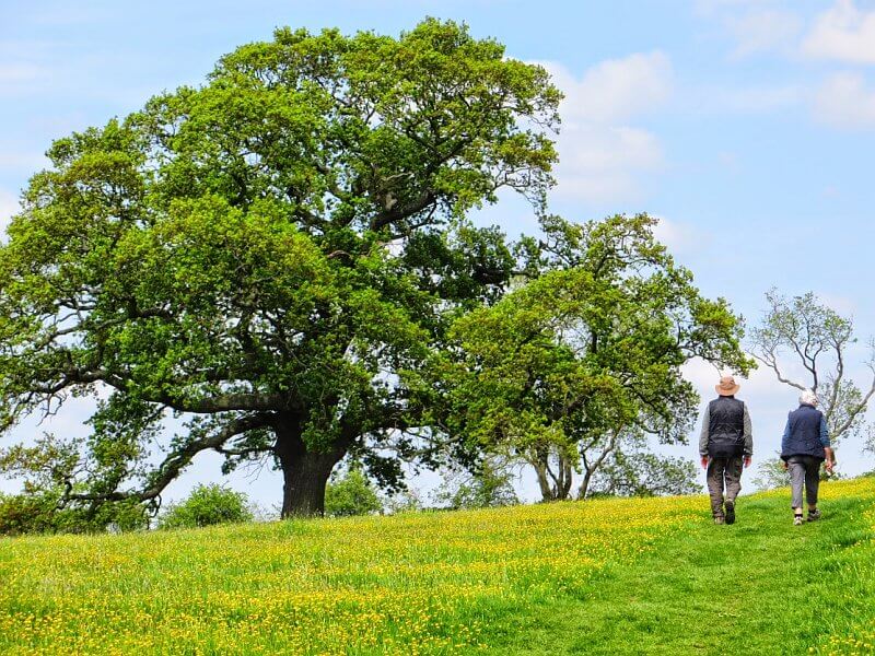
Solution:
<svg viewBox="0 0 875 656"><path fill-rule="evenodd" d="M2 539L0 653L874 653L875 479L821 496Z"/></svg>

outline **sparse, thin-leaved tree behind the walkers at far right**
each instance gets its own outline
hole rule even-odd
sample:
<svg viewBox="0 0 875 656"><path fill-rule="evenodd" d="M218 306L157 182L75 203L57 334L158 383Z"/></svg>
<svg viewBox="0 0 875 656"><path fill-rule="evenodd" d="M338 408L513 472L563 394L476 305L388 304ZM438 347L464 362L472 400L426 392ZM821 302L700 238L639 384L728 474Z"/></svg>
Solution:
<svg viewBox="0 0 875 656"><path fill-rule="evenodd" d="M851 318L839 315L813 292L786 298L772 289L766 301L767 314L751 333L754 356L781 383L817 394L833 447L860 434L875 394L875 342L870 344L866 362L873 380L864 393L848 374L848 356L856 342ZM788 373L788 363L802 372L801 377Z"/></svg>

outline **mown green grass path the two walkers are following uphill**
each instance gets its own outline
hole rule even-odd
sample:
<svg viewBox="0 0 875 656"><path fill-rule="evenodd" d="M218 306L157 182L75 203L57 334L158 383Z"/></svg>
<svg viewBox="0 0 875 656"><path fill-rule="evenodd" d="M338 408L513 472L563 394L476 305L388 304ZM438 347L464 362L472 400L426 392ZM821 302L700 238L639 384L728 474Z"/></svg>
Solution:
<svg viewBox="0 0 875 656"><path fill-rule="evenodd" d="M703 517L574 597L523 611L490 653L875 653L872 491L827 490L824 519L802 527L786 494L743 497L734 526Z"/></svg>

